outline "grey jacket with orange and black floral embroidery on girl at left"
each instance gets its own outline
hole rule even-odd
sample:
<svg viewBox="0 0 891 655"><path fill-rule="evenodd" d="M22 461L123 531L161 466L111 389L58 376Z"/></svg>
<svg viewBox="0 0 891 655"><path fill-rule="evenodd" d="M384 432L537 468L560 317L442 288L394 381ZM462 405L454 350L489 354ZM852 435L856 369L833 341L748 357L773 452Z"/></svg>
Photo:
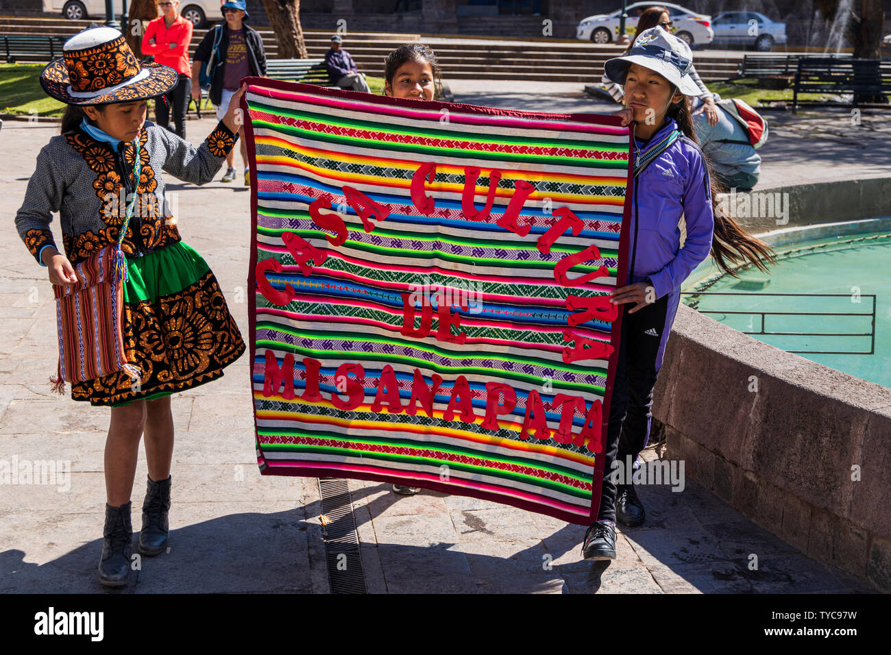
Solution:
<svg viewBox="0 0 891 655"><path fill-rule="evenodd" d="M217 174L237 135L222 121L200 147L146 121L139 135L142 171L133 216L121 244L128 257L141 257L180 240L176 217L164 199L160 171L193 184ZM50 225L59 212L62 243L72 264L118 242L129 194L134 192L133 143L96 141L78 127L53 136L37 155L37 169L15 216L19 235L40 262L40 251L55 246Z"/></svg>

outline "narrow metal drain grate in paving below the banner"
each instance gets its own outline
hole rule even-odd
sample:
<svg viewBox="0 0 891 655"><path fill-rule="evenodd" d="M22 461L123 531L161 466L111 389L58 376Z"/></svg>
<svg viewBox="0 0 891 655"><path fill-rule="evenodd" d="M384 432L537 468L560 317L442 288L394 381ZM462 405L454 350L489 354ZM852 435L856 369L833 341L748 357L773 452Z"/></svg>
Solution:
<svg viewBox="0 0 891 655"><path fill-rule="evenodd" d="M353 500L345 479L319 479L322 513L331 520L322 527L331 594L367 594Z"/></svg>

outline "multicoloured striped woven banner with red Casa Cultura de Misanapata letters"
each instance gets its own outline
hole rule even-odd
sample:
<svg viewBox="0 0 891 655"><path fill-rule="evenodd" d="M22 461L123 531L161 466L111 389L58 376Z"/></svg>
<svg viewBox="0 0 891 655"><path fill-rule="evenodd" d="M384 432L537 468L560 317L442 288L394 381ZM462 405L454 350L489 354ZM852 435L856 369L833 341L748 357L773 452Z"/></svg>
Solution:
<svg viewBox="0 0 891 655"><path fill-rule="evenodd" d="M589 523L620 333L606 294L627 266L628 129L247 81L260 471Z"/></svg>

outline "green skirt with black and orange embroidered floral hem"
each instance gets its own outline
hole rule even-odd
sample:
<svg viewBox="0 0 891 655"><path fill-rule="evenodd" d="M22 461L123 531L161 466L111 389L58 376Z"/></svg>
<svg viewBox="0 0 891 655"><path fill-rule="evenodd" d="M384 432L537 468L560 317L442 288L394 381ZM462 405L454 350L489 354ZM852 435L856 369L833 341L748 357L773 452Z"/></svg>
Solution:
<svg viewBox="0 0 891 655"><path fill-rule="evenodd" d="M142 378L121 371L76 382L74 400L117 406L169 396L216 380L245 350L217 278L184 242L127 258L123 320L127 362Z"/></svg>

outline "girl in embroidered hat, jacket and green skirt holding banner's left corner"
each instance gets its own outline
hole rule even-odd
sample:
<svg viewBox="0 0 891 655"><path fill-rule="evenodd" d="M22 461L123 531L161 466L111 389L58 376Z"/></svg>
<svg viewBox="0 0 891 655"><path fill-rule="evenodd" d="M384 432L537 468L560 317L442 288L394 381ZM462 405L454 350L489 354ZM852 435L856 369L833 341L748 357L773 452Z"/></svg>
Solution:
<svg viewBox="0 0 891 655"><path fill-rule="evenodd" d="M37 170L15 218L22 240L49 268L55 285L78 284L78 263L106 246L119 244L123 252L115 251L118 279L124 280L126 364L71 385L74 400L111 407L99 563L100 581L108 586L126 585L131 569L130 495L143 431L149 476L138 548L143 555L156 555L168 543L174 441L170 395L217 379L245 349L217 279L180 238L160 175L163 169L193 184L213 179L237 138L244 87L195 148L145 120L146 100L168 93L176 82L176 70L141 65L116 29L86 29L71 37L63 57L41 74L45 92L68 104L62 134L37 155ZM55 211L65 254L57 250L50 230ZM80 348L86 349L84 344ZM60 363L55 381L60 393L61 369Z"/></svg>

